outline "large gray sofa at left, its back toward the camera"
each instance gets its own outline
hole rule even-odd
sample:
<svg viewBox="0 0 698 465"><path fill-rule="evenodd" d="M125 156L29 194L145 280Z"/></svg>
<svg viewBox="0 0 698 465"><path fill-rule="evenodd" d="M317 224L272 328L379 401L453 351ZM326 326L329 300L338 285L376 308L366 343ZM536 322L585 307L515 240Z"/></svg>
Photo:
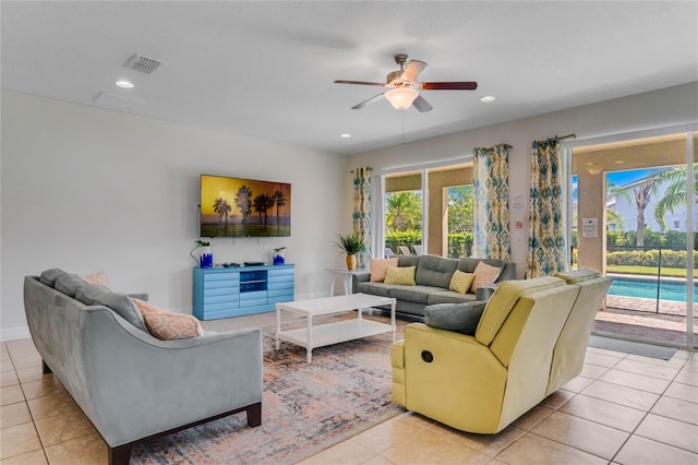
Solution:
<svg viewBox="0 0 698 465"><path fill-rule="evenodd" d="M258 329L160 341L136 327L142 317L128 309L128 296L103 291L110 307L86 305L71 294L81 298L83 286L95 285L70 276L26 276L26 319L44 372L99 431L109 464L128 464L140 442L227 415L245 412L250 427L261 425Z"/></svg>

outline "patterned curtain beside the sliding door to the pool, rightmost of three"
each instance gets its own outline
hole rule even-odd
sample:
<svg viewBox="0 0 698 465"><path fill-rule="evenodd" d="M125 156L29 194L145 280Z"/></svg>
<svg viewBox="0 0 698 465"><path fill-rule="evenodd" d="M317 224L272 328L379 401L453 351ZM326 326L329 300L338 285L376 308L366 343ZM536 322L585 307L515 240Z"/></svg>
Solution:
<svg viewBox="0 0 698 465"><path fill-rule="evenodd" d="M562 160L556 139L533 142L526 278L566 270Z"/></svg>

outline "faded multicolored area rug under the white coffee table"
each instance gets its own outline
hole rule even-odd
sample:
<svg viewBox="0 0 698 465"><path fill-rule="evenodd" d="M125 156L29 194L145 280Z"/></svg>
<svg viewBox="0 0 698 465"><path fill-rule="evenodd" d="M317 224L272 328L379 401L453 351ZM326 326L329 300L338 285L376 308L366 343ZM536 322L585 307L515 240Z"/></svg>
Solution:
<svg viewBox="0 0 698 465"><path fill-rule="evenodd" d="M293 464L405 409L392 402L389 333L313 349L263 327L262 426L232 415L133 449L131 464Z"/></svg>

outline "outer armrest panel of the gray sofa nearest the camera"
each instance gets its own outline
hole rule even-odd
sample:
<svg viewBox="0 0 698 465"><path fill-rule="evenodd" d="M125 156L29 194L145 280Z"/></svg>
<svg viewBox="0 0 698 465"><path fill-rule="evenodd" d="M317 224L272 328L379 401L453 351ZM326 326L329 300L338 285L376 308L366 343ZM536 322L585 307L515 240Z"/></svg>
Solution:
<svg viewBox="0 0 698 465"><path fill-rule="evenodd" d="M159 341L106 308L81 313L75 401L110 446L262 402L258 329Z"/></svg>

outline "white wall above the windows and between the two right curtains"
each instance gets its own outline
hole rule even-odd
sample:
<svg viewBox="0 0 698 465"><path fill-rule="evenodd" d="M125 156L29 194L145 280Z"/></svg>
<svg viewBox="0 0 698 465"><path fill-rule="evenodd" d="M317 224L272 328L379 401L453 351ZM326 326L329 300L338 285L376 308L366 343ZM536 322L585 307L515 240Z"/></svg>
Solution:
<svg viewBox="0 0 698 465"><path fill-rule="evenodd" d="M497 102L491 105L497 105ZM347 166L371 166L376 174L396 167L414 167L424 163L461 158L471 155L474 147L508 143L514 146L509 153L509 202L517 193L524 194L528 200L531 144L534 140L576 133L577 141L580 141L697 121L698 83L694 82L368 152L351 157ZM524 227L516 229L514 224L519 219ZM513 261L517 264L518 277L524 277L528 248L528 212L512 213L510 230Z"/></svg>

